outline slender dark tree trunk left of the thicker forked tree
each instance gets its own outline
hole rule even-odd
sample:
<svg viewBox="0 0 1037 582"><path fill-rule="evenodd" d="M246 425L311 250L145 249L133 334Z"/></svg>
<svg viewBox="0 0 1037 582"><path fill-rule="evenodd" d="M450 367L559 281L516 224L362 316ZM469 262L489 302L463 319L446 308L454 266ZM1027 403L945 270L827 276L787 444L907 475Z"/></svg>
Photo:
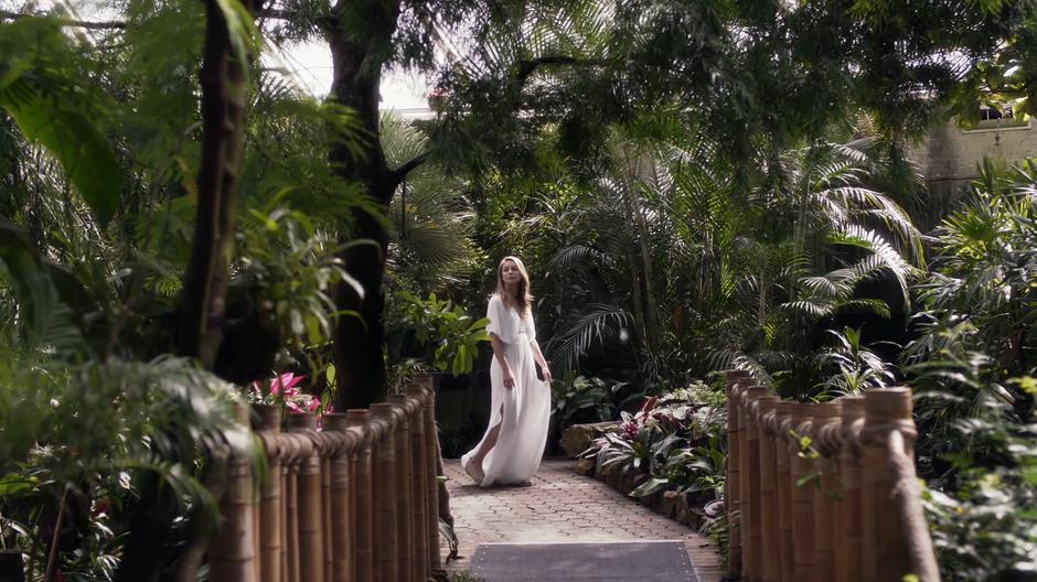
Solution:
<svg viewBox="0 0 1037 582"><path fill-rule="evenodd" d="M252 8L250 0L244 1ZM234 254L234 198L242 163L247 98L245 67L233 54L226 18L217 0L205 0L205 51L202 57L202 159L199 165L199 204L191 262L184 273L179 353L195 357L212 369L223 340L224 306ZM169 562L173 520L179 499L154 473L140 482L140 502L130 522L129 539L117 581L156 580ZM192 515L199 522L203 517ZM207 532L189 528L183 572L197 570Z"/></svg>

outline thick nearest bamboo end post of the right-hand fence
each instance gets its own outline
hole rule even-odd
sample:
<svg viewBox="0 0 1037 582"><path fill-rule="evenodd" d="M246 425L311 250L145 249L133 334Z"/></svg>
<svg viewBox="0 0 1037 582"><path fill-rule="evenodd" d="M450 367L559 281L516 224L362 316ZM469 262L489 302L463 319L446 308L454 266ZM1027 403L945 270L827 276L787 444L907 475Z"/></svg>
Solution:
<svg viewBox="0 0 1037 582"><path fill-rule="evenodd" d="M874 575L874 580L900 580L910 573L911 563L904 522L892 504L896 483L889 471L888 442L891 431L915 433L911 392L906 388L868 390L864 395L864 409L865 421L860 430L864 446L864 524L869 524L863 531L864 549L867 550L863 557L864 565L866 574Z"/></svg>

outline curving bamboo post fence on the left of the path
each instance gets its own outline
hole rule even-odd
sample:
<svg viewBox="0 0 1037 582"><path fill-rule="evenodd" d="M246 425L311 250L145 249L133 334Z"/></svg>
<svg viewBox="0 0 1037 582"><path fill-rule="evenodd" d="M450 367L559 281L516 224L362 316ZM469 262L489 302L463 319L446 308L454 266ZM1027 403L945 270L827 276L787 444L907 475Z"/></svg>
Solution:
<svg viewBox="0 0 1037 582"><path fill-rule="evenodd" d="M213 582L424 582L441 571L435 396L419 377L370 410L257 407L267 466L232 457Z"/></svg>

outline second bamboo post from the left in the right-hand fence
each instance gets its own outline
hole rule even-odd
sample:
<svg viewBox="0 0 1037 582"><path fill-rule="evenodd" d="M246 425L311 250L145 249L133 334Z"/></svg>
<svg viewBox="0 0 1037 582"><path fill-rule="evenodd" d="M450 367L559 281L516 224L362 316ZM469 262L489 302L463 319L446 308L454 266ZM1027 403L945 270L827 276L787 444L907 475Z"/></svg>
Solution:
<svg viewBox="0 0 1037 582"><path fill-rule="evenodd" d="M759 582L763 552L760 547L760 431L756 421L757 399L766 394L760 386L748 386L741 392L739 434L745 433L741 464L741 552L742 578Z"/></svg>

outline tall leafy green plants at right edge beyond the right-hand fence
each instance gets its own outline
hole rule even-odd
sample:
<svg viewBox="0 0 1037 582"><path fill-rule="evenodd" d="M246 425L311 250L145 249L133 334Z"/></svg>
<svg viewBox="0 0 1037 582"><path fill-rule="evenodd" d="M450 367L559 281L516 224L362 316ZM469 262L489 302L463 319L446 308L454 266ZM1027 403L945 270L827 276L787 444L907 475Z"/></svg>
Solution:
<svg viewBox="0 0 1037 582"><path fill-rule="evenodd" d="M985 162L971 200L934 233L902 355L918 394L920 472L949 580L1034 576L1037 528L1037 165Z"/></svg>

